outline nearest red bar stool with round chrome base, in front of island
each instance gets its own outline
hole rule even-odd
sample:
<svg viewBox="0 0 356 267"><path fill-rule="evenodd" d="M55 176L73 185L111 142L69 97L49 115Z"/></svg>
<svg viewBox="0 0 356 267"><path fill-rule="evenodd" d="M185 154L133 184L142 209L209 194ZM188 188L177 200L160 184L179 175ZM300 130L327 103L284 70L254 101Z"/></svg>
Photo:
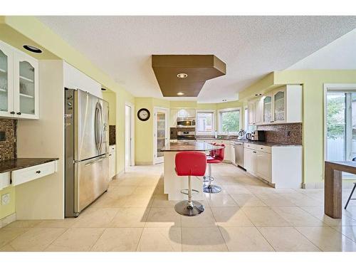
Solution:
<svg viewBox="0 0 356 267"><path fill-rule="evenodd" d="M188 201L180 201L174 209L179 214L185 216L195 216L201 214L204 211L204 206L198 202L192 200L192 192L199 192L192 189L191 177L203 176L206 171L206 155L201 152L179 152L175 157L175 170L178 176L188 177L188 189L182 189L182 194L188 195Z"/></svg>

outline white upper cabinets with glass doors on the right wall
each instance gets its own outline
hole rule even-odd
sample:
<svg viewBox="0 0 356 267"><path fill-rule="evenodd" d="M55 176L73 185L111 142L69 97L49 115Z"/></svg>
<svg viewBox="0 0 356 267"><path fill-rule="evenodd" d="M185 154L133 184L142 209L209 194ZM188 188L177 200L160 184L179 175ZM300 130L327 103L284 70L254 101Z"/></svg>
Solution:
<svg viewBox="0 0 356 267"><path fill-rule="evenodd" d="M248 103L248 108L250 105L251 103ZM285 85L277 88L264 95L261 101L253 102L253 105L254 120L251 123L251 115L248 114L249 125L302 122L302 86ZM261 117L261 120L258 120L258 117Z"/></svg>

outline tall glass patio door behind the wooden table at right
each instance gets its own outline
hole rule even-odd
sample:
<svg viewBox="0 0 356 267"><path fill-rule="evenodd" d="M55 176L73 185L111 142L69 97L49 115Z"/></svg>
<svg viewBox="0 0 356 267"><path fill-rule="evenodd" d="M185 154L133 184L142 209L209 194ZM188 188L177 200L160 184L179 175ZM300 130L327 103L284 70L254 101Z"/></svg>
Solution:
<svg viewBox="0 0 356 267"><path fill-rule="evenodd" d="M328 91L327 160L356 161L356 90Z"/></svg>

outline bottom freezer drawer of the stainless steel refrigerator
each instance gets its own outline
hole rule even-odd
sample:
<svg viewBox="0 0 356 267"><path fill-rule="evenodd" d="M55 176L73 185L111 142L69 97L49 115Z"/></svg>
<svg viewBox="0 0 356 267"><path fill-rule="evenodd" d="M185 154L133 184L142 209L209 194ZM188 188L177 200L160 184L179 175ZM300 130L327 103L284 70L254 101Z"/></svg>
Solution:
<svg viewBox="0 0 356 267"><path fill-rule="evenodd" d="M75 163L75 212L85 209L109 186L108 155Z"/></svg>

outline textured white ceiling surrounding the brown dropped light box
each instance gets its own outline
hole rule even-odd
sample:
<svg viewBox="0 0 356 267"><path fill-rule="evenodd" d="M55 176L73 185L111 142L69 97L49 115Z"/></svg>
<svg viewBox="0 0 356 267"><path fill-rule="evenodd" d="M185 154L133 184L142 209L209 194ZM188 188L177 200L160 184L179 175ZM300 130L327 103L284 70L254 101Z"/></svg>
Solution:
<svg viewBox="0 0 356 267"><path fill-rule="evenodd" d="M239 90L284 70L356 28L356 16L40 16L135 96L162 97L152 54L214 54L224 76L197 100L236 100Z"/></svg>

